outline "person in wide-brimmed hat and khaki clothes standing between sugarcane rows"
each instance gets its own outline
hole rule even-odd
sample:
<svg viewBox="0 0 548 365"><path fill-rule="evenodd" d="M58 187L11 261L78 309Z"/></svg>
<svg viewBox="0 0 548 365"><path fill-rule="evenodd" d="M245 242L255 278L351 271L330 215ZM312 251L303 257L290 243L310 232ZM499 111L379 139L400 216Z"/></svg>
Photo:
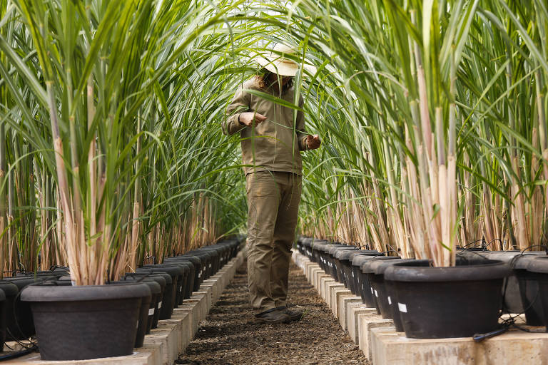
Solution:
<svg viewBox="0 0 548 365"><path fill-rule="evenodd" d="M300 151L320 147L318 135L305 132L302 110L260 96L295 103L294 51L276 44L255 54L260 75L243 83L227 108L223 133L240 132L248 197L248 284L255 319L266 323L298 320L302 313L285 306L289 262L295 239L301 191ZM302 108L302 98L298 98Z"/></svg>

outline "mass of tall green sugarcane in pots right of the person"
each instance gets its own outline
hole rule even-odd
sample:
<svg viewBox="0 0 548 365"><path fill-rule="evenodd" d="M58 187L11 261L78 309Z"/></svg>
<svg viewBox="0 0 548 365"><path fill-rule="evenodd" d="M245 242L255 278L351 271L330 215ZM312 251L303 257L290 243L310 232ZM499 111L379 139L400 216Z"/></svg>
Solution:
<svg viewBox="0 0 548 365"><path fill-rule="evenodd" d="M542 1L300 1L278 11L302 25L293 36L317 55L328 89L311 88L318 102L308 104L332 143L327 171L309 160L316 183L303 199L316 209L304 212L323 208L328 235L356 231L361 215L370 246L437 266L455 264L457 244L546 242ZM304 229L317 221L305 213Z"/></svg>

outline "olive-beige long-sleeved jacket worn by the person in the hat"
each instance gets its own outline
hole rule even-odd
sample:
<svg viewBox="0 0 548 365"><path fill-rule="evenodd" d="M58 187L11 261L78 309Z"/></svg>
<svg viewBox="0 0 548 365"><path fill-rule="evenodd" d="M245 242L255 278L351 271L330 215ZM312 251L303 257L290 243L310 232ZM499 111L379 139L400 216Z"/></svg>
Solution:
<svg viewBox="0 0 548 365"><path fill-rule="evenodd" d="M295 103L294 88L280 96L275 88L261 89L255 78L238 88L232 103L226 109L228 119L223 122L223 133L233 135L240 132L245 175L263 170L301 175L303 163L300 151L307 149L305 140L308 135L305 132L303 112L280 106L246 90L261 91ZM299 106L303 106L300 96ZM245 127L238 123L238 115L245 111L255 111L268 119L256 127Z"/></svg>

